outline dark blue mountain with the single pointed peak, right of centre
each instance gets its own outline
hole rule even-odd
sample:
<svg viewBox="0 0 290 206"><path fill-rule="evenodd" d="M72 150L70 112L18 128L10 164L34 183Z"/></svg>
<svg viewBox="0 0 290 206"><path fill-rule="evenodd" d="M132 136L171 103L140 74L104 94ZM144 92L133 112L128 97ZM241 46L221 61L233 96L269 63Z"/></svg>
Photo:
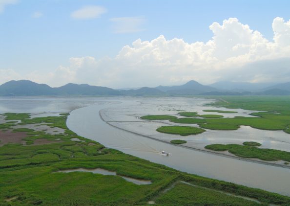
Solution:
<svg viewBox="0 0 290 206"><path fill-rule="evenodd" d="M155 89L158 89L171 95L193 95L204 92L218 91L216 88L202 85L194 80L191 80L181 86L158 86Z"/></svg>

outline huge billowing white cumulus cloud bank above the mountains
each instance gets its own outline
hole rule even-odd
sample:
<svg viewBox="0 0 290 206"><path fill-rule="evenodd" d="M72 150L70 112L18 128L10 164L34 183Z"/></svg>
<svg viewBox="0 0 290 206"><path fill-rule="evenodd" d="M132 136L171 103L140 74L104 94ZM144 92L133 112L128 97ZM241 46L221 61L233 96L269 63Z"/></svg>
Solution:
<svg viewBox="0 0 290 206"><path fill-rule="evenodd" d="M187 43L160 35L151 41L138 39L113 58L70 58L68 66L49 73L43 82L120 88L178 85L189 80L204 84L290 81L290 21L273 20L273 40L236 18L212 23L209 29L213 36L207 42Z"/></svg>

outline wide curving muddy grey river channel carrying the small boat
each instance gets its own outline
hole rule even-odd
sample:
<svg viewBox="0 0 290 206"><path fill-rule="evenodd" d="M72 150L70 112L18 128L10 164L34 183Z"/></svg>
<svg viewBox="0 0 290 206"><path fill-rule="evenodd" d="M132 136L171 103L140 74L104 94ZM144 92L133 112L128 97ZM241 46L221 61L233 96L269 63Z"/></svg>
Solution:
<svg viewBox="0 0 290 206"><path fill-rule="evenodd" d="M70 114L67 125L80 136L94 139L107 147L121 150L127 154L165 164L184 172L290 196L290 169L174 146L126 132L104 122L100 118L100 110L106 108L122 110L122 108L134 108L140 104L129 99L121 101L121 104L115 104L113 107L112 105L94 105L77 109ZM142 113L150 114L147 111L142 111ZM172 113L176 113L176 111L172 111ZM153 114L155 114L154 111ZM137 117L130 114L127 115L126 120L130 121L132 118L136 121ZM115 117L110 114L106 120L114 121ZM171 155L163 156L161 151L169 152Z"/></svg>

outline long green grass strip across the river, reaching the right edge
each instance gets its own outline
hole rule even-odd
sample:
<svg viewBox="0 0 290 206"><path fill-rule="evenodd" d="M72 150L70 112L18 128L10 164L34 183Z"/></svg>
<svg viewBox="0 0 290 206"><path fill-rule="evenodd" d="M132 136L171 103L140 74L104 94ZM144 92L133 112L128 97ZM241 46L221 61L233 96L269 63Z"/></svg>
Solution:
<svg viewBox="0 0 290 206"><path fill-rule="evenodd" d="M229 153L242 158L290 161L290 152L275 149L260 149L255 146L239 145L239 144L210 144L205 146L205 148L214 151L228 150Z"/></svg>

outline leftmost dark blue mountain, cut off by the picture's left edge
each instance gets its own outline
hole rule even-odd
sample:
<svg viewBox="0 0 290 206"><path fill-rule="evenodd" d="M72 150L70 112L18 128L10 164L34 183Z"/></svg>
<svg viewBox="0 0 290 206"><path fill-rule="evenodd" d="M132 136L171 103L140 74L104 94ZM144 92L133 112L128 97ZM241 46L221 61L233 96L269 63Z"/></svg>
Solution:
<svg viewBox="0 0 290 206"><path fill-rule="evenodd" d="M12 80L0 86L0 96L35 96L54 94L53 89L48 85L37 84L29 80Z"/></svg>

